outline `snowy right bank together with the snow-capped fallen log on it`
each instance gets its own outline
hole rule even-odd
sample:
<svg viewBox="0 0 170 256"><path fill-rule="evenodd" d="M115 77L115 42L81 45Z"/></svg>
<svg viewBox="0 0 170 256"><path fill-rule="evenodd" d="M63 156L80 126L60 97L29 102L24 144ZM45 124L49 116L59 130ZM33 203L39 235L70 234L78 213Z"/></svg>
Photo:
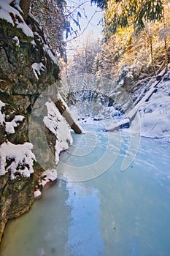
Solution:
<svg viewBox="0 0 170 256"><path fill-rule="evenodd" d="M159 77L162 79L150 79L147 89L134 102L134 108L107 127L108 131L125 128L126 132L170 140L170 71L165 74L163 69Z"/></svg>

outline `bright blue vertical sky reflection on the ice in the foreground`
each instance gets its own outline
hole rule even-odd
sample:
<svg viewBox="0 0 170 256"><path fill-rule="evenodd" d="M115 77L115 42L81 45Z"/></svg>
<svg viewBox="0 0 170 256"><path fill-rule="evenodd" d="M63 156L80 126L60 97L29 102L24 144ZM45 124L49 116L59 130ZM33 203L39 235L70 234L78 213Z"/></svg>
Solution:
<svg viewBox="0 0 170 256"><path fill-rule="evenodd" d="M68 186L69 198L66 203L72 209L66 243L68 255L103 255L98 189L83 187L80 183L69 183Z"/></svg>

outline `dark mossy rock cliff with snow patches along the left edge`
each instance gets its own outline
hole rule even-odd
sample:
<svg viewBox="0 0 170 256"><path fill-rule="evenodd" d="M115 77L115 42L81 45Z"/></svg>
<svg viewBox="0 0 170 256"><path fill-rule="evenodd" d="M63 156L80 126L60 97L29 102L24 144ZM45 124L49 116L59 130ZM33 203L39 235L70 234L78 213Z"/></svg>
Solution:
<svg viewBox="0 0 170 256"><path fill-rule="evenodd" d="M34 18L26 24L21 12L0 1L0 241L7 220L34 202L42 167L28 143L28 119L42 91L58 80L58 72L57 59ZM46 133L55 151L58 138L49 128ZM68 146L71 141L66 141Z"/></svg>

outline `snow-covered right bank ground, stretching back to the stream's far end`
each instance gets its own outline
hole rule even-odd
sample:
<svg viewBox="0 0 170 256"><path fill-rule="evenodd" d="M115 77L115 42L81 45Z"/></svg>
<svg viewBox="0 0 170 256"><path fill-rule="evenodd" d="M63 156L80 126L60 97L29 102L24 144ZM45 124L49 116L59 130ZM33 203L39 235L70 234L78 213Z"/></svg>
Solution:
<svg viewBox="0 0 170 256"><path fill-rule="evenodd" d="M129 112L120 115L113 106L107 107L98 114L100 118L96 118L96 120L103 122L106 130L113 131L115 128L121 128L122 124L127 123L127 118L130 118L133 119L130 121L131 126L123 129L124 132L170 141L170 72L157 86L155 86L156 83L157 81L153 81L150 91ZM151 97L150 94L152 94ZM136 117L132 118L135 113ZM89 117L83 118L82 123L98 125L98 121Z"/></svg>

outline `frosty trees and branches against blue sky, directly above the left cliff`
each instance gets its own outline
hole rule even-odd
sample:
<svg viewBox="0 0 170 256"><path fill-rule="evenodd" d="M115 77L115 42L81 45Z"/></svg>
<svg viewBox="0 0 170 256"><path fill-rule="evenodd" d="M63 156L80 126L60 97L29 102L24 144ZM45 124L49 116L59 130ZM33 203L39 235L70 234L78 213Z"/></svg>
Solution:
<svg viewBox="0 0 170 256"><path fill-rule="evenodd" d="M50 48L65 61L66 39L76 38L80 31L81 6L65 0L20 0L26 23L31 24L31 19L35 18Z"/></svg>

